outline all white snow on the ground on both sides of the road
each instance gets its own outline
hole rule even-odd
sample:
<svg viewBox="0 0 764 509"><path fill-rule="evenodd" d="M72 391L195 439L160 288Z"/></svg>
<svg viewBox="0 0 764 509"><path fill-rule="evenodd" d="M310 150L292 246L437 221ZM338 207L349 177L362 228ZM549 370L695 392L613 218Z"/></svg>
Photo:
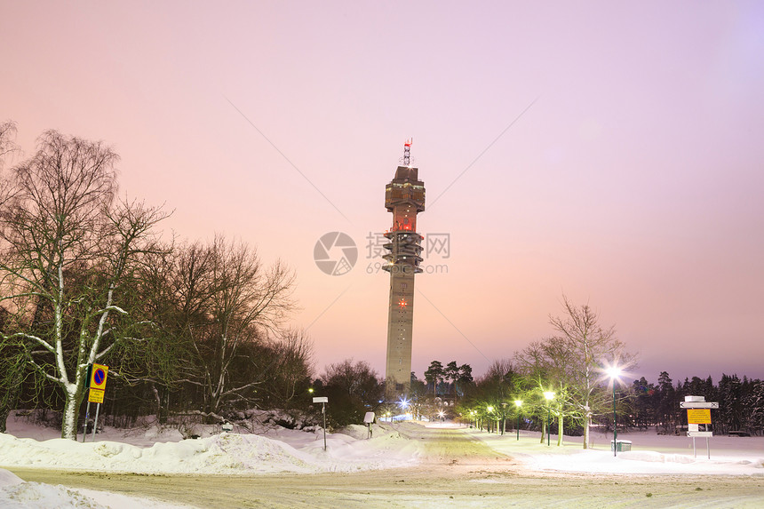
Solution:
<svg viewBox="0 0 764 509"><path fill-rule="evenodd" d="M325 473L356 472L418 465L421 441L409 440L404 430L412 423L375 425L373 438L365 426L327 434L272 426L261 434L218 433L203 429L198 440L182 440L177 430L107 428L91 441L66 441L59 432L9 418L8 433L0 434L0 465L64 470L130 473ZM434 425L438 426L438 425ZM449 424L442 425L449 426ZM593 449L582 449L581 439L566 437L562 447L540 444L539 433L507 432L504 436L465 429L489 447L519 460L536 471L576 473L720 474L764 477L764 438L712 437L711 459L705 440L696 439L697 457L687 437L655 432L625 433L632 450L617 457L609 449L610 435L594 434ZM0 507L169 507L149 500L90 490L67 489L21 481L0 468ZM179 507L179 506L177 506Z"/></svg>

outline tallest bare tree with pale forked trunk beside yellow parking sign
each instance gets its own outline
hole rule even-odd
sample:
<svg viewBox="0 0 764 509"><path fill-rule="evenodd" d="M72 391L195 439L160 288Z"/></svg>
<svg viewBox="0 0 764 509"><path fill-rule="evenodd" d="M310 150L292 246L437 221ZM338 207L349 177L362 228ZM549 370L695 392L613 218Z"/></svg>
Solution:
<svg viewBox="0 0 764 509"><path fill-rule="evenodd" d="M0 209L0 277L29 362L66 398L61 436L76 439L87 367L131 338L122 296L152 228L166 214L115 202L118 156L100 142L46 131L36 154L12 171Z"/></svg>

